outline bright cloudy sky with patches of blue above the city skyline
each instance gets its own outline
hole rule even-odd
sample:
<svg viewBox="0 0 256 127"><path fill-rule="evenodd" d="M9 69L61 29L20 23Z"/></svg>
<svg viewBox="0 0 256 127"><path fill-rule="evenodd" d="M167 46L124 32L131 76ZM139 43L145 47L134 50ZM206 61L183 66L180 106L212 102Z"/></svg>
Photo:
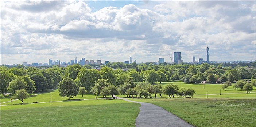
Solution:
<svg viewBox="0 0 256 127"><path fill-rule="evenodd" d="M255 60L252 1L2 1L1 64Z"/></svg>

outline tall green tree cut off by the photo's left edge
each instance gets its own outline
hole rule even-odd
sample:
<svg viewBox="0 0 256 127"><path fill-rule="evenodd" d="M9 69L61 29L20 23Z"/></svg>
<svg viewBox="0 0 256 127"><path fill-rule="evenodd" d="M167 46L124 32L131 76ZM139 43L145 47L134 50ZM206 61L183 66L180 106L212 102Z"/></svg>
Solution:
<svg viewBox="0 0 256 127"><path fill-rule="evenodd" d="M8 71L8 68L5 66L1 66L0 67L0 90L1 90L1 94L5 94L7 93L7 88L9 87L9 83L12 81L12 79L14 78L14 75L12 73L10 73Z"/></svg>

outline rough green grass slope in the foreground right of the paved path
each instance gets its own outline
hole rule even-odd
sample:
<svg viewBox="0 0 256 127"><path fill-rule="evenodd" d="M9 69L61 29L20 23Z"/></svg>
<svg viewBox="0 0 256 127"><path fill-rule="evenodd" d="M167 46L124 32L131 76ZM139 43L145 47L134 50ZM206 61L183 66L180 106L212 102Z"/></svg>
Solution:
<svg viewBox="0 0 256 127"><path fill-rule="evenodd" d="M255 127L256 99L135 99L158 105L197 127Z"/></svg>

